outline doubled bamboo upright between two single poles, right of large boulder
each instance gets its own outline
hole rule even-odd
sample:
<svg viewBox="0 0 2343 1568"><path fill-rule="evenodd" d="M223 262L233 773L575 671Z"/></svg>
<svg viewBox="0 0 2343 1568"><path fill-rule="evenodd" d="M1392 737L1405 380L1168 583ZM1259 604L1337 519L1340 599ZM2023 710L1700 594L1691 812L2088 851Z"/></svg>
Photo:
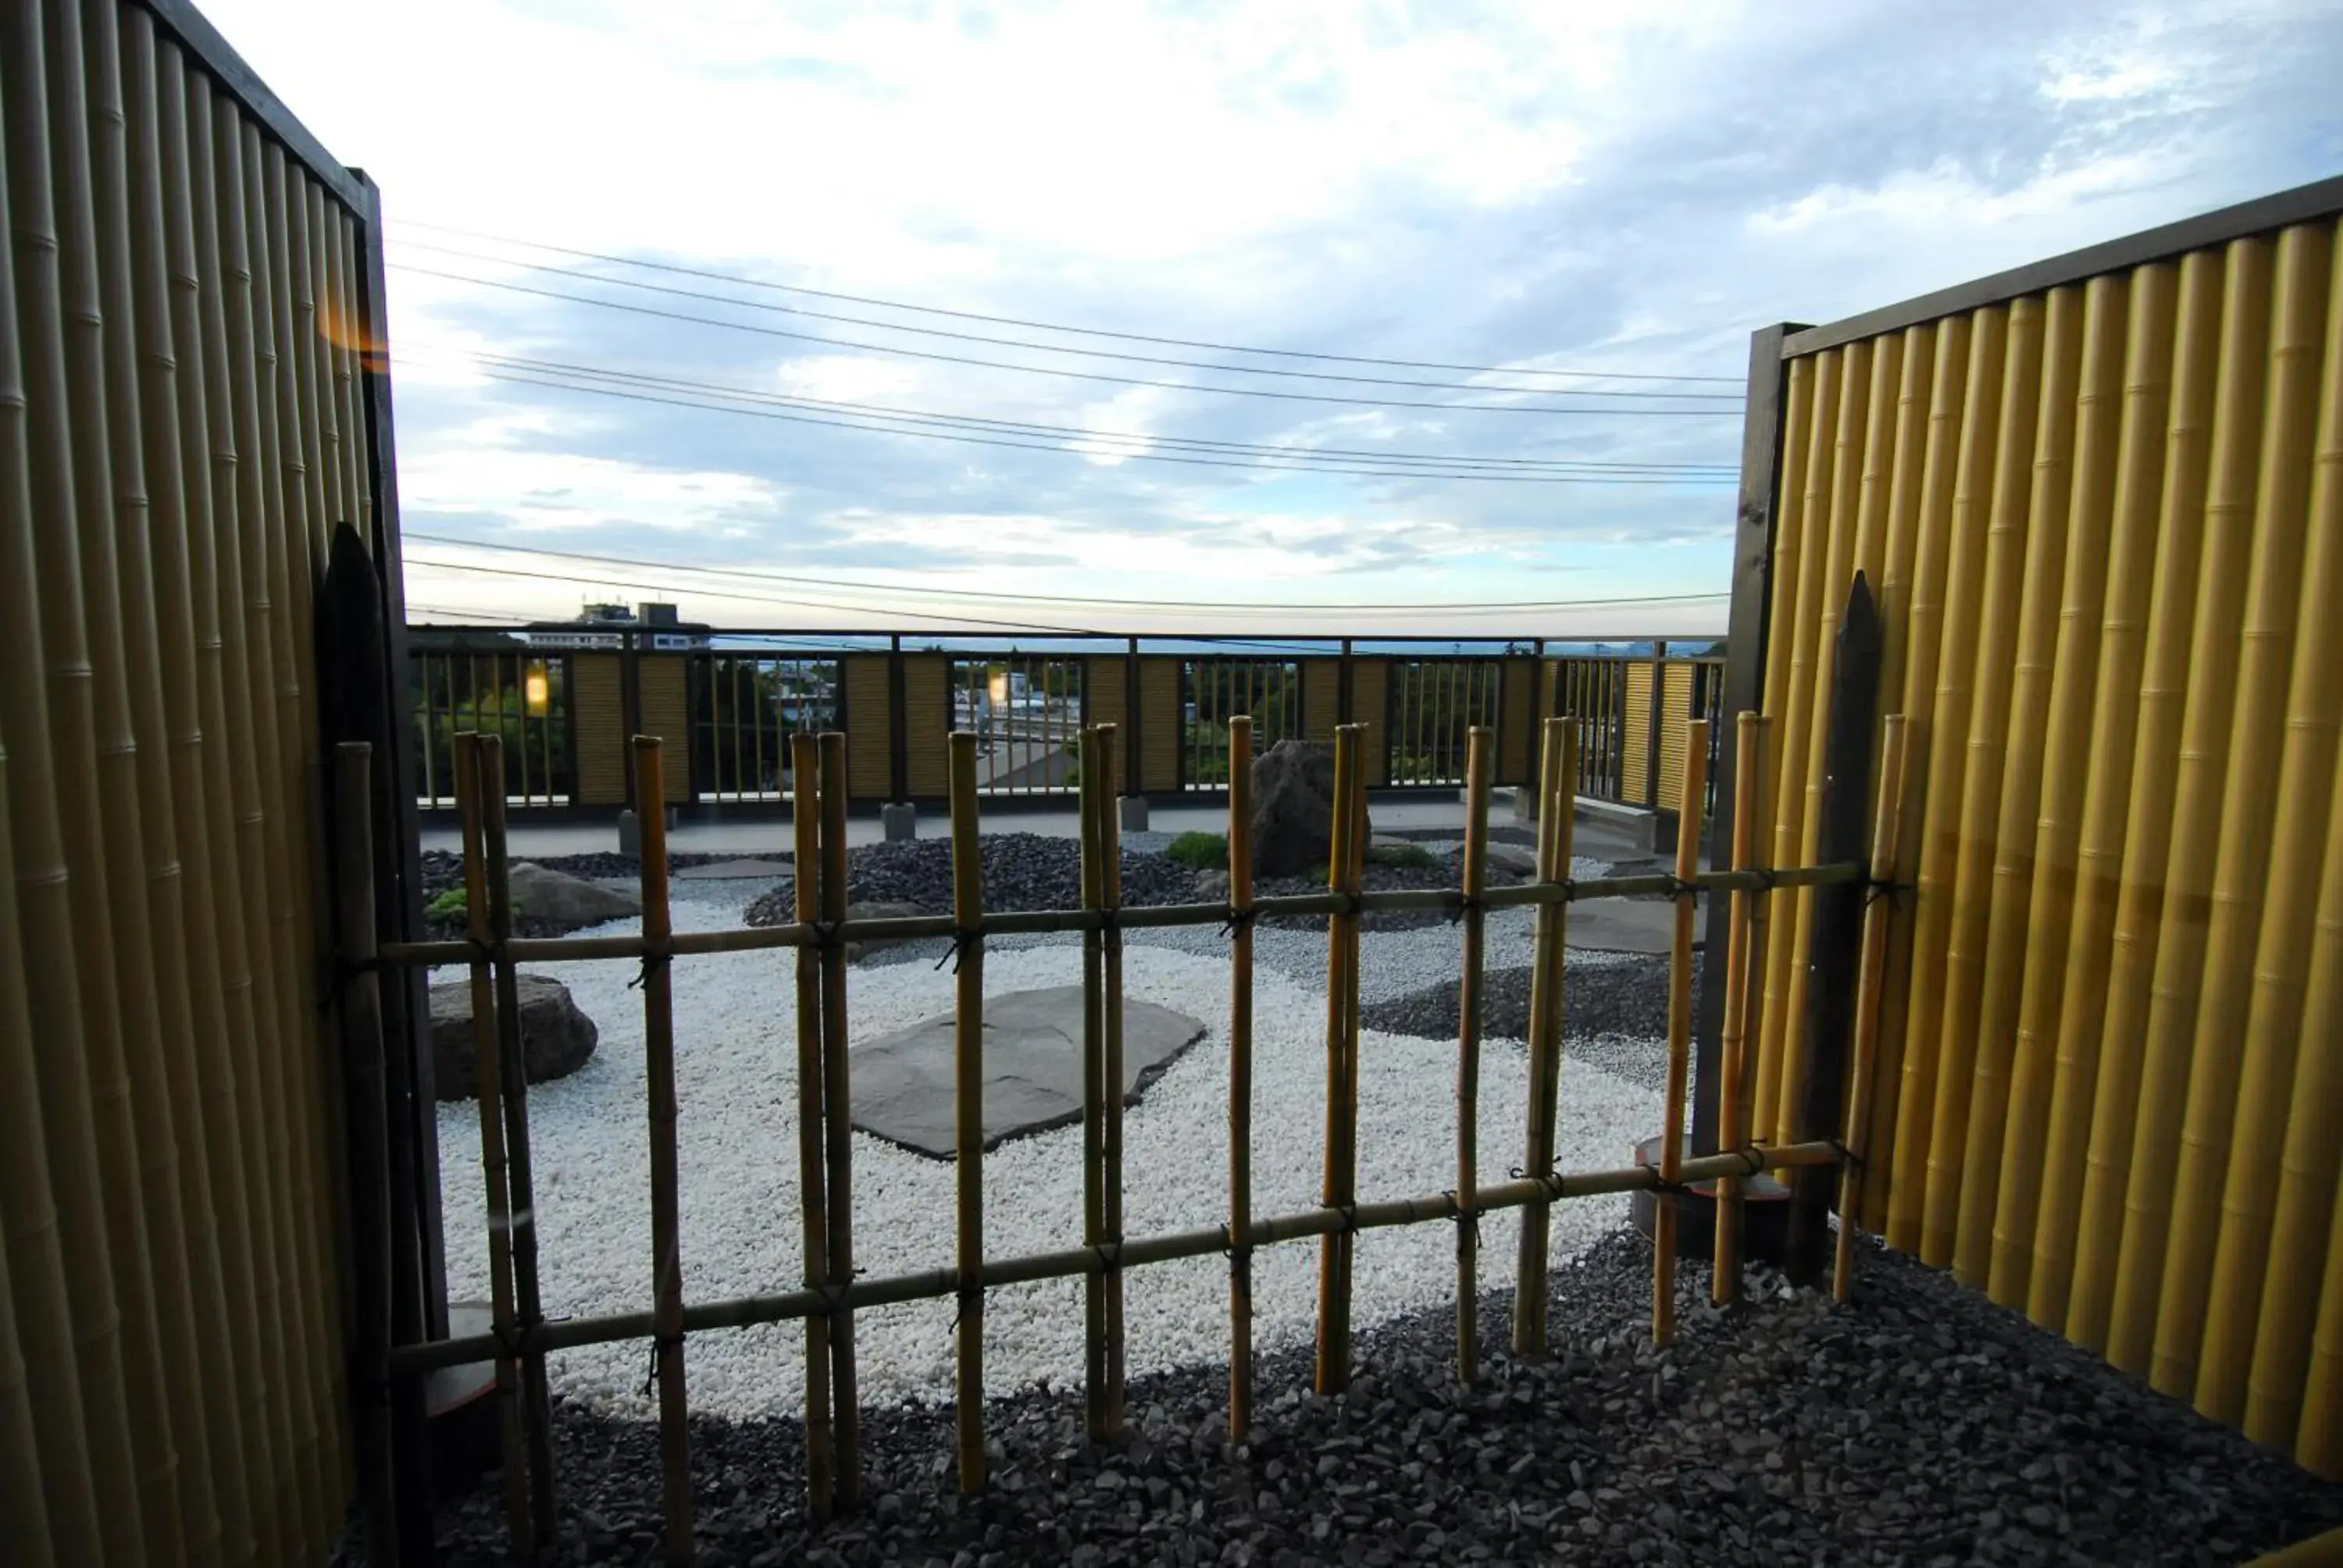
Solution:
<svg viewBox="0 0 2343 1568"><path fill-rule="evenodd" d="M1657 766L1659 759L1654 757ZM1537 780L1537 879L1570 874L1570 785L1579 776L1579 722L1546 720ZM1530 945L1530 1106L1521 1167L1553 1174L1553 1116L1563 1071L1563 935L1570 905L1537 905ZM1546 1254L1551 1247L1544 1200L1521 1209L1521 1254L1514 1270L1514 1355L1546 1352Z"/></svg>

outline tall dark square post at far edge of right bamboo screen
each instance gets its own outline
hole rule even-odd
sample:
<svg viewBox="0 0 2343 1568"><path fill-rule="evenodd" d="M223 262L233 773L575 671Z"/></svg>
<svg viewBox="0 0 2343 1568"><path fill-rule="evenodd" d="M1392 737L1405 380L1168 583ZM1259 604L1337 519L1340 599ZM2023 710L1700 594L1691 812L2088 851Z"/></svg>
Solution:
<svg viewBox="0 0 2343 1568"><path fill-rule="evenodd" d="M1717 731L1715 806L1710 818L1734 820L1734 729L1743 713L1755 713L1764 694L1767 609L1774 584L1774 506L1781 480L1781 401L1785 366L1781 342L1797 326L1767 326L1750 333L1748 403L1741 415L1741 504L1734 527L1734 600L1724 645L1724 710ZM1767 759L1771 764L1771 757ZM1774 825L1757 832L1771 841ZM1724 1024L1724 947L1731 933L1729 898L1708 900L1708 952L1720 954L1701 973L1699 1031L1692 1069L1692 1148L1713 1153L1717 1146L1717 1043ZM1750 1050L1757 1043L1750 1041Z"/></svg>

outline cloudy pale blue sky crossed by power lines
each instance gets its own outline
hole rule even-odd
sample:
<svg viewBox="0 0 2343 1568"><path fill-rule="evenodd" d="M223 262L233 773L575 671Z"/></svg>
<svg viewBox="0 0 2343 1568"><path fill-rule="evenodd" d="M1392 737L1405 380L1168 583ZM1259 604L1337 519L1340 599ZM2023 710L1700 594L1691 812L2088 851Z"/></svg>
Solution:
<svg viewBox="0 0 2343 1568"><path fill-rule="evenodd" d="M382 185L440 621L1717 633L1750 330L2343 171L2343 0L204 12Z"/></svg>

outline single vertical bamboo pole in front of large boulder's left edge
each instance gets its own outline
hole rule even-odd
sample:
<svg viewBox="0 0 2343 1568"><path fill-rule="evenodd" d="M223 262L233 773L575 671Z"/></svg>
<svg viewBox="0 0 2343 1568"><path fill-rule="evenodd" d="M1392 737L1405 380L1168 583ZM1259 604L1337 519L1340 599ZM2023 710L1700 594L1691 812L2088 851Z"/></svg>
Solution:
<svg viewBox="0 0 2343 1568"><path fill-rule="evenodd" d="M1254 1430L1254 720L1228 724L1228 1441Z"/></svg>

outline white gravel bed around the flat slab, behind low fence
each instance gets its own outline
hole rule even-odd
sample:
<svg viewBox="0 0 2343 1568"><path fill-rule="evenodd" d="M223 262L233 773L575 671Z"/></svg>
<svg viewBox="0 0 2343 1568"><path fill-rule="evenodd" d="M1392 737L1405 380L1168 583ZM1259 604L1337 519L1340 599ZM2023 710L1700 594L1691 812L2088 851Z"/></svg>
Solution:
<svg viewBox="0 0 2343 1568"><path fill-rule="evenodd" d="M677 884L675 926L738 923L752 886ZM616 921L600 933L630 930ZM1528 961L1528 914L1490 916L1490 966ZM1317 1202L1324 1123L1326 938L1261 930L1254 1001L1254 1193L1256 1212ZM1518 952L1516 952L1518 949ZM1225 1219L1228 1191L1228 956L1214 928L1134 933L1125 989L1134 998L1204 1020L1207 1036L1125 1116L1125 1233L1143 1235ZM1361 938L1361 996L1396 996L1457 966L1450 926ZM797 1223L797 1034L790 954L722 954L675 961L677 1092L682 1104L682 1226L686 1298L710 1301L794 1289L801 1280ZM630 963L548 963L600 1024L600 1048L581 1071L530 1092L537 1228L548 1315L642 1310L651 1303L649 1163L642 1062L642 991ZM436 975L438 980L455 977ZM986 991L1080 980L1068 942L996 949ZM928 963L862 966L851 980L853 1038L867 1041L951 1008L954 980ZM1359 1195L1396 1198L1455 1184L1455 1045L1366 1034L1359 1083ZM1659 1097L1586 1062L1565 1062L1558 1127L1563 1170L1628 1160L1635 1137L1659 1120ZM1492 1050L1481 1064L1481 1172L1500 1179L1521 1163L1523 1059ZM473 1104L440 1106L440 1170L448 1282L457 1298L485 1298L485 1205ZM993 1256L1080 1245L1080 1130L1066 1127L998 1148L984 1160L984 1238ZM855 1134L855 1261L869 1275L940 1268L951 1254L954 1167ZM1574 1256L1626 1212L1624 1198L1572 1200L1553 1209L1556 1261ZM1516 1214L1481 1228L1481 1282L1511 1282ZM1364 1329L1455 1294L1455 1240L1446 1223L1361 1233L1354 1322ZM1254 1336L1272 1350L1307 1341L1317 1245L1279 1245L1254 1259ZM1078 1280L998 1289L986 1296L986 1388L1003 1395L1082 1376ZM1125 1275L1134 1373L1228 1355L1228 1263L1218 1256L1134 1268ZM933 1402L951 1395L951 1303L876 1308L858 1315L867 1402ZM691 1404L722 1416L797 1409L804 1334L797 1324L696 1334L689 1341ZM644 1411L647 1350L590 1345L553 1357L555 1383L588 1404Z"/></svg>

